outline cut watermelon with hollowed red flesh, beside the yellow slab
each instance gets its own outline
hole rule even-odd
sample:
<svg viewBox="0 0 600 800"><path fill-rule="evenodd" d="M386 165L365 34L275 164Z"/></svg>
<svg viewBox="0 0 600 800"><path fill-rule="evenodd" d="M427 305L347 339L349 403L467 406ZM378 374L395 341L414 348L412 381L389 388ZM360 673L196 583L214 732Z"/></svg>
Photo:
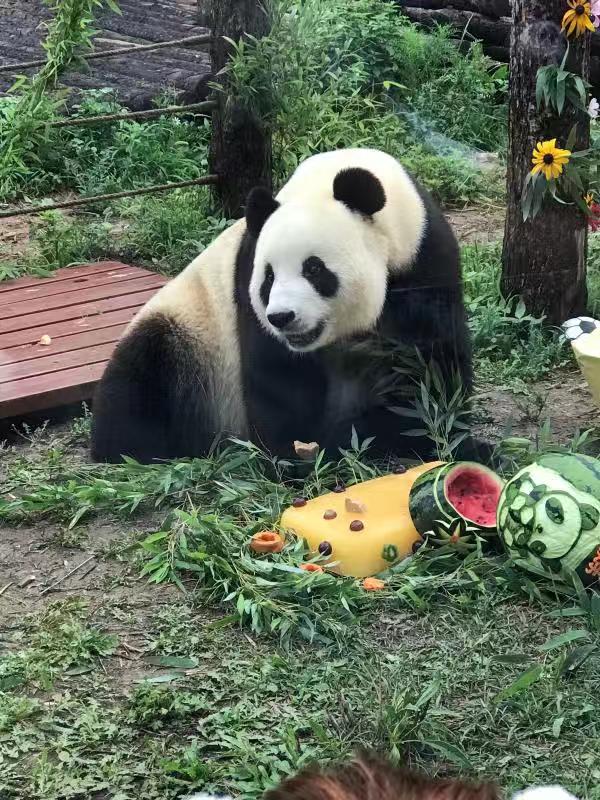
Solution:
<svg viewBox="0 0 600 800"><path fill-rule="evenodd" d="M470 461L442 464L415 481L408 501L421 536L436 527L464 519L471 530L496 528L496 510L504 483L491 469Z"/></svg>

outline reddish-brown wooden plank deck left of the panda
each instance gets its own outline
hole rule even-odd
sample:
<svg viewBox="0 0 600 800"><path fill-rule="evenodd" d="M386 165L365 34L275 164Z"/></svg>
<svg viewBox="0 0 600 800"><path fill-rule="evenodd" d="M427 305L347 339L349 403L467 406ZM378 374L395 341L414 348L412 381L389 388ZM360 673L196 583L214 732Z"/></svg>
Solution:
<svg viewBox="0 0 600 800"><path fill-rule="evenodd" d="M124 328L166 282L103 261L0 283L0 419L90 399Z"/></svg>

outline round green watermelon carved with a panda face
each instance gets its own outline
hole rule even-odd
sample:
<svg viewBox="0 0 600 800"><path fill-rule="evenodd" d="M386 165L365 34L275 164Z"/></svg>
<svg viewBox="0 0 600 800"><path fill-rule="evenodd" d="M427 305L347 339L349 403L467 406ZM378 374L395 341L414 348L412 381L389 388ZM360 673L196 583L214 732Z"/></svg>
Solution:
<svg viewBox="0 0 600 800"><path fill-rule="evenodd" d="M600 577L600 461L552 453L504 488L498 532L515 563L568 580Z"/></svg>

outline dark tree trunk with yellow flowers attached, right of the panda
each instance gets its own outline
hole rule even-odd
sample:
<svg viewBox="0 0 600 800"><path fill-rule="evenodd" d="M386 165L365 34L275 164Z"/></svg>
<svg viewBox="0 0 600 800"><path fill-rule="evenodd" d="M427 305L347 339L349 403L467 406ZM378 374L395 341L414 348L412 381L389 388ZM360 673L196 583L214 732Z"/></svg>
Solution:
<svg viewBox="0 0 600 800"><path fill-rule="evenodd" d="M502 292L518 295L528 310L560 324L585 310L587 223L573 205L551 199L534 220L523 222L521 194L536 142L556 138L564 147L578 123L575 150L589 144L589 118L572 107L558 117L538 112L535 86L538 68L559 64L566 39L560 23L564 0L513 0L510 60L510 122L508 209L502 254ZM590 35L571 40L567 68L586 80L590 66Z"/></svg>

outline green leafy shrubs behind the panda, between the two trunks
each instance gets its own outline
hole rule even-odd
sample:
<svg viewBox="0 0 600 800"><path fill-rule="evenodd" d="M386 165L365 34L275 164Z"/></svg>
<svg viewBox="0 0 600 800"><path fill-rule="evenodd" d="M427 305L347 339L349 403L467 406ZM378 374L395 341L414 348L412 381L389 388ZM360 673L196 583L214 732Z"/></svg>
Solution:
<svg viewBox="0 0 600 800"><path fill-rule="evenodd" d="M274 124L279 182L313 153L371 146L419 177L425 167L438 197L457 202L483 186L465 145L503 144L505 84L492 62L477 46L462 55L444 28L417 30L387 0L277 2L271 35L242 42L229 72L235 93ZM443 178L407 114L461 143L439 166Z"/></svg>

